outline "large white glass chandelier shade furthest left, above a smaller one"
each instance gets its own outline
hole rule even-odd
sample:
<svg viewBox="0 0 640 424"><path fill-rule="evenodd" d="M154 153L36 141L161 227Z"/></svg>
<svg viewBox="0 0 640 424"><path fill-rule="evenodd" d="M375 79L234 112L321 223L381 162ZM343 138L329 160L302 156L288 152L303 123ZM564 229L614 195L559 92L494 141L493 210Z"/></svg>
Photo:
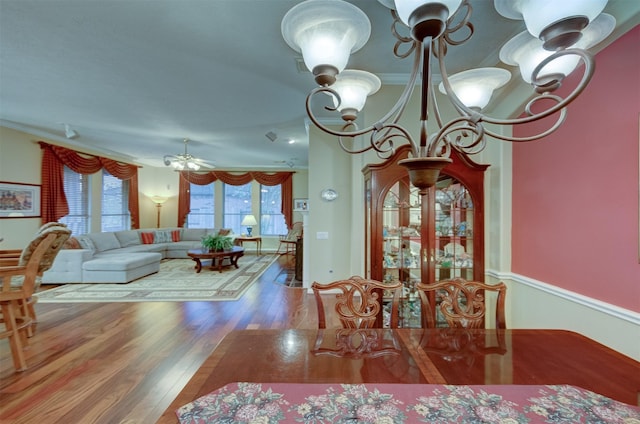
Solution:
<svg viewBox="0 0 640 424"><path fill-rule="evenodd" d="M301 52L309 70L331 65L341 72L349 55L369 39L371 23L363 11L342 0L306 0L282 19L282 36Z"/></svg>

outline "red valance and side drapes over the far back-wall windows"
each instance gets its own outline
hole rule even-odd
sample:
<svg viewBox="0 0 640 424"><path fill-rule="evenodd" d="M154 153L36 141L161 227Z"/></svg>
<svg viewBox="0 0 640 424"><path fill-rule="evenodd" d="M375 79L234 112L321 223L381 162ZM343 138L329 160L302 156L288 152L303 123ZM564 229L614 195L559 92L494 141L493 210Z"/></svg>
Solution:
<svg viewBox="0 0 640 424"><path fill-rule="evenodd" d="M191 211L190 183L197 185L211 184L220 180L229 185L244 185L253 180L266 186L280 184L282 186L282 204L280 211L284 215L287 228L291 228L293 221L293 172L246 172L244 174L232 174L225 171L210 171L194 173L191 171L180 172L180 184L178 193L178 227L184 226L187 215Z"/></svg>

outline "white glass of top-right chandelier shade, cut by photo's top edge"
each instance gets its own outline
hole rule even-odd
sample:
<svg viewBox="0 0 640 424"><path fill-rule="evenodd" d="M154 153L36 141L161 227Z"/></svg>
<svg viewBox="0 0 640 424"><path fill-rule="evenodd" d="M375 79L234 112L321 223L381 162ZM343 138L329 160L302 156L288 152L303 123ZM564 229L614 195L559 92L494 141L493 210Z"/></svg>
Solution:
<svg viewBox="0 0 640 424"><path fill-rule="evenodd" d="M592 22L608 0L494 0L499 14L524 19L527 30L538 38L543 29L569 17L585 16Z"/></svg>

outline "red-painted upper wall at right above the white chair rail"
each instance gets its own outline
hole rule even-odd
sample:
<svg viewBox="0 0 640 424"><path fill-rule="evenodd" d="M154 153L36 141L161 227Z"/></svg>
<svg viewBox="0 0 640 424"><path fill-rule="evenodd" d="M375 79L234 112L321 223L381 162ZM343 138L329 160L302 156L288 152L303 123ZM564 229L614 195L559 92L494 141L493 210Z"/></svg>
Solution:
<svg viewBox="0 0 640 424"><path fill-rule="evenodd" d="M636 26L558 131L514 146L511 245L514 273L638 312L639 46Z"/></svg>

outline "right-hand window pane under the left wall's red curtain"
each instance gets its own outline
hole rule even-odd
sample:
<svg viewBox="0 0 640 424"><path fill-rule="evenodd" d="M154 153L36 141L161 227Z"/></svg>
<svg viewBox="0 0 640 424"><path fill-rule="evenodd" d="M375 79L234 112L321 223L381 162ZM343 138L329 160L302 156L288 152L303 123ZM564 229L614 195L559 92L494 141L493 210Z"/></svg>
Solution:
<svg viewBox="0 0 640 424"><path fill-rule="evenodd" d="M121 180L102 170L102 231L122 231L131 228L129 213L129 181Z"/></svg>

